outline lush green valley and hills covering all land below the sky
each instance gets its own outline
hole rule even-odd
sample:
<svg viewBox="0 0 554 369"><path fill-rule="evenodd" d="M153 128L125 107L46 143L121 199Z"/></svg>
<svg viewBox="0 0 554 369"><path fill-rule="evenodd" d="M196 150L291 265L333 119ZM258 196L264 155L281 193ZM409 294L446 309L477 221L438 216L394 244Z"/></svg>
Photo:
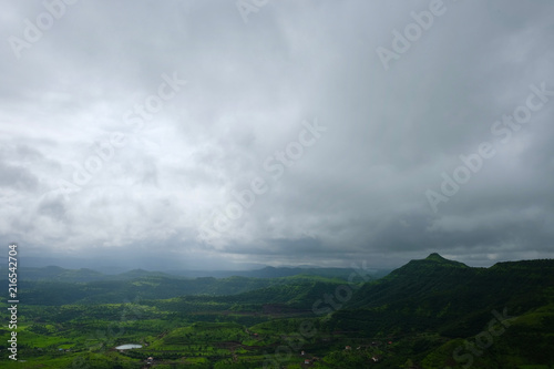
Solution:
<svg viewBox="0 0 554 369"><path fill-rule="evenodd" d="M330 270L32 271L20 283L19 361L4 324L2 368L554 368L554 260L471 268L432 254L359 284Z"/></svg>

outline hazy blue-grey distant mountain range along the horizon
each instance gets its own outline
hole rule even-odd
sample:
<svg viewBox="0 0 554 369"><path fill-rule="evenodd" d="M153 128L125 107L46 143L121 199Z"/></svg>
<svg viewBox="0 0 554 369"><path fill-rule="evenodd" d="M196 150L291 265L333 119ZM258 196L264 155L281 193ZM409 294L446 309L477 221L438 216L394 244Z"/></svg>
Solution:
<svg viewBox="0 0 554 369"><path fill-rule="evenodd" d="M367 279L375 280L387 270L366 270ZM0 267L0 274L7 274ZM347 268L274 268L248 271L148 271L134 269L117 275L105 275L92 269L64 269L57 266L22 267L18 269L19 295L28 305L117 304L127 299L164 299L178 296L240 296L253 304L265 300L297 301L296 289L301 286L306 299L317 285L336 286L347 281L352 269ZM177 275L178 274L178 275ZM6 279L7 284L7 279ZM288 287L287 287L288 286ZM7 287L6 287L7 288ZM270 297L270 298L269 298Z"/></svg>

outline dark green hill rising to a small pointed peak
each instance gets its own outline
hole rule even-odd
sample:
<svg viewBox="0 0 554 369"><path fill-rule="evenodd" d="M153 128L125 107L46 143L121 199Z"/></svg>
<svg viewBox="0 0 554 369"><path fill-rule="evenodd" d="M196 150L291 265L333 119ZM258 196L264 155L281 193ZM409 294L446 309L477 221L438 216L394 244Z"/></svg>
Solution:
<svg viewBox="0 0 554 369"><path fill-rule="evenodd" d="M406 315L451 321L468 311L490 311L506 304L519 309L542 304L533 296L554 286L554 260L499 263L469 267L431 254L411 260L388 276L365 284L348 301L349 309L402 310Z"/></svg>

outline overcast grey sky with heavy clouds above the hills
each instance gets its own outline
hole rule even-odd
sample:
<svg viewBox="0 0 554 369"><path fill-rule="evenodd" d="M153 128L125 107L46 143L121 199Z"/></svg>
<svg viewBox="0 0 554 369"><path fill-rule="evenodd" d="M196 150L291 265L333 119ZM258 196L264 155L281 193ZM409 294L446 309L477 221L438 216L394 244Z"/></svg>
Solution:
<svg viewBox="0 0 554 369"><path fill-rule="evenodd" d="M552 258L552 13L2 1L0 239L157 270Z"/></svg>

